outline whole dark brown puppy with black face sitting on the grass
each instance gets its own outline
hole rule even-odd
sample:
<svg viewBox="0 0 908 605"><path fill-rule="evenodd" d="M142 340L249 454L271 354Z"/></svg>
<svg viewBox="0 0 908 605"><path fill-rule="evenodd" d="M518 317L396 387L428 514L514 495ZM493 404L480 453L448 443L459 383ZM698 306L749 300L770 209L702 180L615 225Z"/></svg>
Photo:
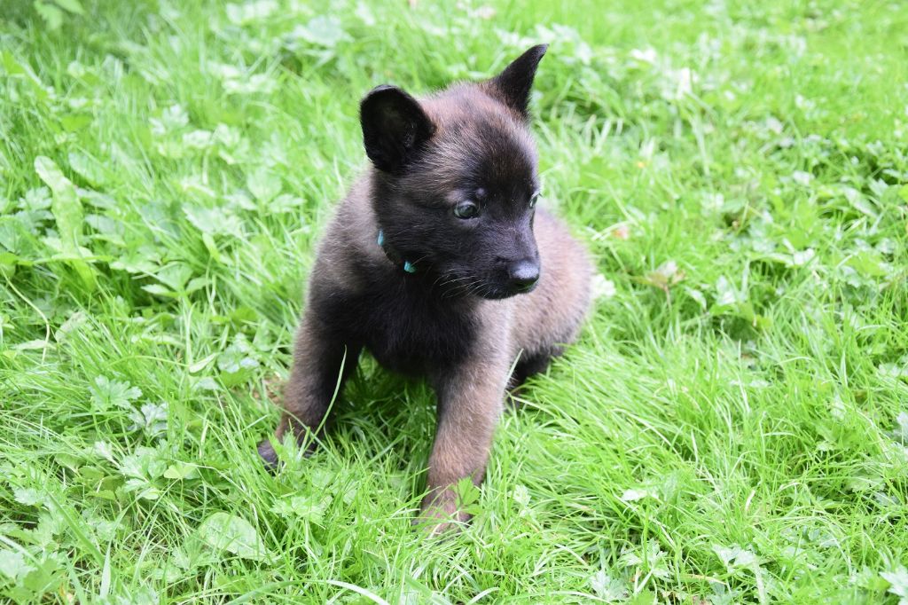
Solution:
<svg viewBox="0 0 908 605"><path fill-rule="evenodd" d="M536 208L528 98L545 52L534 46L491 80L420 101L393 86L367 94L372 167L341 203L310 277L276 437L321 426L363 348L427 377L438 429L422 516L433 531L468 518L451 486L482 481L508 380L545 369L587 310L587 253ZM269 441L259 452L277 462Z"/></svg>

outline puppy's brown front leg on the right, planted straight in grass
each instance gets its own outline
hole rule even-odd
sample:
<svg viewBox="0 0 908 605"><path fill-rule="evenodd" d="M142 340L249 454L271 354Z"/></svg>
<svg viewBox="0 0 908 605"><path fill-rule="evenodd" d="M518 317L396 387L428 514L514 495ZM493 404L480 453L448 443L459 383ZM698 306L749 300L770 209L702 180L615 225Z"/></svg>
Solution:
<svg viewBox="0 0 908 605"><path fill-rule="evenodd" d="M432 533L449 529L451 520L469 520L454 488L465 477L479 485L486 471L508 382L507 359L496 357L470 359L435 377L438 428L419 520L428 522Z"/></svg>

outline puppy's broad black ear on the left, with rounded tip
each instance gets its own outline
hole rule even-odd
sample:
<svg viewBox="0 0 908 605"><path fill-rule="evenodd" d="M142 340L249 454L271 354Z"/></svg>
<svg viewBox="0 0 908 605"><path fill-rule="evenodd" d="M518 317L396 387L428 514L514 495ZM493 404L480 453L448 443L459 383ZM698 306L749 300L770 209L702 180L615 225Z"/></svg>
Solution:
<svg viewBox="0 0 908 605"><path fill-rule="evenodd" d="M386 84L362 99L360 124L366 154L376 168L387 173L400 173L435 132L435 124L419 101Z"/></svg>

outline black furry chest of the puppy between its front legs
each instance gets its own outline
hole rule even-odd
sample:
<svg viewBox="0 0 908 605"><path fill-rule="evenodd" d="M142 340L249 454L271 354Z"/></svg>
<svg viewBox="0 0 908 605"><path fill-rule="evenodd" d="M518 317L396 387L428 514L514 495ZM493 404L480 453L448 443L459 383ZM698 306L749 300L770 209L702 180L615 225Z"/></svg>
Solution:
<svg viewBox="0 0 908 605"><path fill-rule="evenodd" d="M476 342L476 322L456 305L408 288L363 294L351 305L356 336L381 365L422 374L465 359Z"/></svg>

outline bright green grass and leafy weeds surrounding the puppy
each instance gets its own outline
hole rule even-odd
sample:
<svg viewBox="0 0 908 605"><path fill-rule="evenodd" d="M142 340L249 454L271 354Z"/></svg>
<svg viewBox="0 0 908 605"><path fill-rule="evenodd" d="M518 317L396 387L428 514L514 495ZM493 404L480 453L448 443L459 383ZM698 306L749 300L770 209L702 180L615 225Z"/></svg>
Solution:
<svg viewBox="0 0 908 605"><path fill-rule="evenodd" d="M54 1L0 8L0 600L906 602L903 3ZM600 296L430 541L425 385L255 444L360 95L538 41Z"/></svg>

